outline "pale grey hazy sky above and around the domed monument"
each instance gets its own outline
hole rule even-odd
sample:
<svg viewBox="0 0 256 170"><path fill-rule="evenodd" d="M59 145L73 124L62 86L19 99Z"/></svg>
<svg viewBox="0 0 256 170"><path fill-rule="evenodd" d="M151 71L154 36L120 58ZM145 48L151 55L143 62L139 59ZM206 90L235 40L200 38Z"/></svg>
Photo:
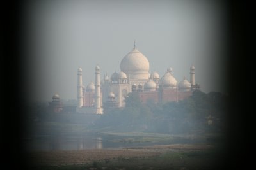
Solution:
<svg viewBox="0 0 256 170"><path fill-rule="evenodd" d="M120 71L136 47L160 76L168 67L178 81L195 80L204 92L225 83L225 8L213 1L32 1L26 4L24 44L31 98L76 99L77 68L83 83Z"/></svg>

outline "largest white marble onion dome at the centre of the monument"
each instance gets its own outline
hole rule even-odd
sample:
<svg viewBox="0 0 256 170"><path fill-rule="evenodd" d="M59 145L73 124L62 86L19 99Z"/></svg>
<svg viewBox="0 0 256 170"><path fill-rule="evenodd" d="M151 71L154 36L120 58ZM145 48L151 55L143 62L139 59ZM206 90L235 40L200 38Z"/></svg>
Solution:
<svg viewBox="0 0 256 170"><path fill-rule="evenodd" d="M120 68L131 79L148 79L148 59L136 48L125 55Z"/></svg>

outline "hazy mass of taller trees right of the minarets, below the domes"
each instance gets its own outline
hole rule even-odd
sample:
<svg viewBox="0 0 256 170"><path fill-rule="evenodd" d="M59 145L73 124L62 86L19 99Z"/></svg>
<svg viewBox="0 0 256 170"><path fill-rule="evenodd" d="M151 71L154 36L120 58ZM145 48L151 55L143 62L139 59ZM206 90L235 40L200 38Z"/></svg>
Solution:
<svg viewBox="0 0 256 170"><path fill-rule="evenodd" d="M228 96L199 90L179 102L142 104L135 93L129 94L125 108L108 110L95 128L111 131L139 131L170 134L222 132L228 111Z"/></svg>

